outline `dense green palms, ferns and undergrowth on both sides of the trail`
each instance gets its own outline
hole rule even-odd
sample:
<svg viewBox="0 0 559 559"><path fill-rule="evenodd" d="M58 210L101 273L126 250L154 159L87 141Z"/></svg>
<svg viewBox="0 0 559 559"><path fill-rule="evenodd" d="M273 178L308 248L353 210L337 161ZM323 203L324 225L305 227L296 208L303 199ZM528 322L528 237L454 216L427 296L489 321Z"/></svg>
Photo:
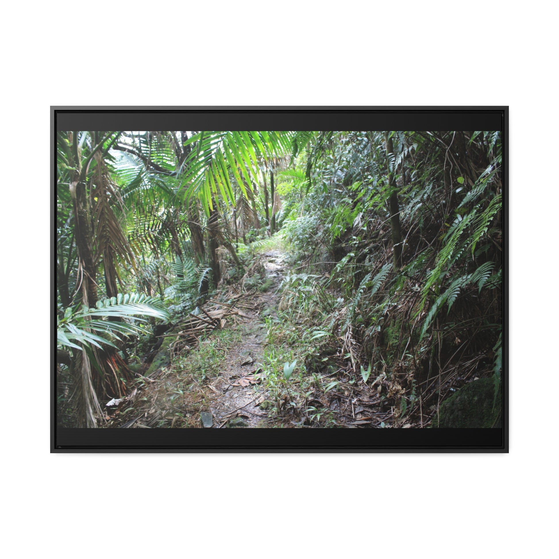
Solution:
<svg viewBox="0 0 559 559"><path fill-rule="evenodd" d="M358 427L436 426L477 379L498 424L500 132L67 131L57 148L59 425L103 427L184 316L261 285L270 247L287 273L259 371L278 426L341 427L323 396L353 390L386 412Z"/></svg>

